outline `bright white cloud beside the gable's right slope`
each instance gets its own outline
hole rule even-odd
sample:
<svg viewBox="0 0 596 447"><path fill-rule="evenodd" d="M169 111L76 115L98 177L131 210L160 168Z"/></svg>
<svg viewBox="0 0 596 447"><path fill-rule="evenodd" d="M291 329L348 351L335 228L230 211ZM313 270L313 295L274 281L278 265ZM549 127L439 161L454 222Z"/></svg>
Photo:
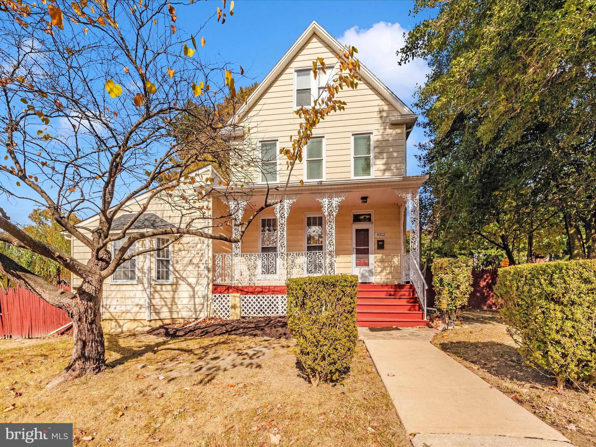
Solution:
<svg viewBox="0 0 596 447"><path fill-rule="evenodd" d="M398 65L395 52L402 48L404 29L399 23L380 21L369 29L354 26L343 33L338 40L342 44L358 48L359 60L367 66L406 105L414 102L412 94L416 85L422 85L429 73L429 67L421 59L405 65Z"/></svg>

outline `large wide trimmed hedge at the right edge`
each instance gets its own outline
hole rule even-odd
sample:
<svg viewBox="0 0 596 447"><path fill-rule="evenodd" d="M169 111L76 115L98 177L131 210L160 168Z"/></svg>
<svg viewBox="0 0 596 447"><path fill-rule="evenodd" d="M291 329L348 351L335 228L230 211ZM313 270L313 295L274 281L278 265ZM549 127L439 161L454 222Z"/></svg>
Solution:
<svg viewBox="0 0 596 447"><path fill-rule="evenodd" d="M499 269L495 296L526 362L567 380L593 383L596 367L596 260Z"/></svg>

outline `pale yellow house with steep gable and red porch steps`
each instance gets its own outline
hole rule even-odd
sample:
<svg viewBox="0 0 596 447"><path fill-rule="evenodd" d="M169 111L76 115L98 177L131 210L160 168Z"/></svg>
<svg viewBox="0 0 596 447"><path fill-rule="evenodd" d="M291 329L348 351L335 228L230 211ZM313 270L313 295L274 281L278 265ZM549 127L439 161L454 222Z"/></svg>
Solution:
<svg viewBox="0 0 596 447"><path fill-rule="evenodd" d="M360 325L424 323L418 189L426 176L406 175L406 142L417 114L361 66L358 88L338 94L345 110L318 123L291 173L280 154L299 127L295 111L312 107L324 82L313 76L313 60L324 58L333 76L343 48L313 22L232 118L239 129L234 138L250 139L258 163L235 200L216 191L205 197L213 215L233 217L232 225L213 231L239 231L267 192L277 204L254 219L240 243L185 236L163 253L119 268L104 290L108 328L208 315L284 315L285 280L322 274L358 275ZM199 175L215 174L206 167ZM131 204L127 212L134 211ZM176 219L167 203L150 211L143 228ZM85 250L75 241L77 257Z"/></svg>

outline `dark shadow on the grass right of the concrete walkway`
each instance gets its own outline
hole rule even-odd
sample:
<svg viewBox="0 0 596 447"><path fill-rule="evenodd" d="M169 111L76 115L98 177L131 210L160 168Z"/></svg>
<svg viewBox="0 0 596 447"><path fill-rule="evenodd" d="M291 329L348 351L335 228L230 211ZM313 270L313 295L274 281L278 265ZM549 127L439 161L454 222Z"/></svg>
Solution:
<svg viewBox="0 0 596 447"><path fill-rule="evenodd" d="M504 380L532 383L533 386L548 387L554 379L547 371L524 364L523 358L514 346L498 342L442 342L441 350L476 365L480 370Z"/></svg>

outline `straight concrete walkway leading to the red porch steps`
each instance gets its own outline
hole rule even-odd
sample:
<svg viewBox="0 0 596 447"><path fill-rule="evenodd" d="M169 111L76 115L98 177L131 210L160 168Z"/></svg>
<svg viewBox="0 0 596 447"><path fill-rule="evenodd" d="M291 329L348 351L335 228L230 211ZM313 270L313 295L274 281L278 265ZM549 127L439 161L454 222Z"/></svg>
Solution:
<svg viewBox="0 0 596 447"><path fill-rule="evenodd" d="M434 332L359 330L414 447L573 445L434 347Z"/></svg>

